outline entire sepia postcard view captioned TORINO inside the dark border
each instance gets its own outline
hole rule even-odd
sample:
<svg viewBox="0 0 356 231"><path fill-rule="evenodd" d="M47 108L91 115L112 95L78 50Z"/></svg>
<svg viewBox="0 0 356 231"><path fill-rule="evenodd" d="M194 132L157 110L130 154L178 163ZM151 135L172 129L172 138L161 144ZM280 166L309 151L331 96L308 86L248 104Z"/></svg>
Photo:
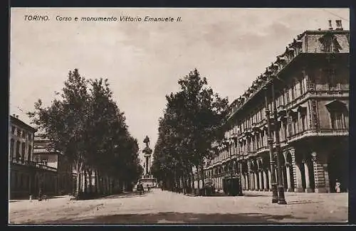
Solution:
<svg viewBox="0 0 356 231"><path fill-rule="evenodd" d="M9 225L349 221L349 9L9 16Z"/></svg>

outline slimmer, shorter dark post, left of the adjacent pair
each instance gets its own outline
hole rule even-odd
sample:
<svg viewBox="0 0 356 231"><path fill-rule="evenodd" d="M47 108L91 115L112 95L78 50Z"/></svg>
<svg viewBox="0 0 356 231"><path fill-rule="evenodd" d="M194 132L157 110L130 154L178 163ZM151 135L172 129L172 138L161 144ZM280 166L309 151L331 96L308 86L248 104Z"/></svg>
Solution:
<svg viewBox="0 0 356 231"><path fill-rule="evenodd" d="M266 104L266 121L267 121L267 141L268 141L268 148L269 148L269 159L271 165L271 186L272 186L272 203L278 203L278 193L277 193L277 184L276 184L276 175L274 171L275 161L273 159L273 139L271 135L271 119L270 119L270 111L268 108L268 100L267 100L267 90L268 87L263 87L265 92L265 104Z"/></svg>

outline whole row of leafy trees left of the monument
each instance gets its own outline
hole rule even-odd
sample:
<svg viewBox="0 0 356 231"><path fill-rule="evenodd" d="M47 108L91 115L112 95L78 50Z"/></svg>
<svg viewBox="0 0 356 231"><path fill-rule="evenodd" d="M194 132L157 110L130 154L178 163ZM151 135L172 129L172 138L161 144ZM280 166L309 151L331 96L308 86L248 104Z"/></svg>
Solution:
<svg viewBox="0 0 356 231"><path fill-rule="evenodd" d="M108 80L86 80L75 69L64 85L51 106L43 107L38 100L28 115L51 141L51 148L75 166L75 195L83 190L82 174L89 177L88 182L85 177L84 190L91 193L112 193L115 186L136 181L143 171L137 139L127 131L125 115L112 99Z"/></svg>

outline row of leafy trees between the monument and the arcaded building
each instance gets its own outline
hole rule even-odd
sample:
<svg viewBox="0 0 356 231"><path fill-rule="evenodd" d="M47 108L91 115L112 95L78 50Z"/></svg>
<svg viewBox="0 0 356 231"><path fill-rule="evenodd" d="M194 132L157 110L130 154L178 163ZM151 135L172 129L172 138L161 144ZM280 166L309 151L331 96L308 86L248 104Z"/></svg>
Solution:
<svg viewBox="0 0 356 231"><path fill-rule="evenodd" d="M228 100L215 94L197 70L178 84L181 90L166 96L164 116L159 118L151 172L165 187L182 182L184 188L192 188L193 168L204 179L204 160L218 154L214 144L224 138Z"/></svg>

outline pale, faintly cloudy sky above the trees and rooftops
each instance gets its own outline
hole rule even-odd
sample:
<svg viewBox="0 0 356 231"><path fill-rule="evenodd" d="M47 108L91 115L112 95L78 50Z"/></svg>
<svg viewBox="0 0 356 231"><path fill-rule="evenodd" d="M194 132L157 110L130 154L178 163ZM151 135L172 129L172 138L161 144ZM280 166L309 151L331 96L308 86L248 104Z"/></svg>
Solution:
<svg viewBox="0 0 356 231"><path fill-rule="evenodd" d="M33 111L38 99L49 106L69 70L78 68L88 79L108 78L130 134L141 150L149 136L154 149L165 95L179 91L179 78L197 68L214 92L231 103L298 34L326 29L328 20L335 27L337 19L348 30L349 12L12 8L9 112L29 124L26 112ZM49 20L28 21L25 16L48 16ZM57 16L72 20L57 21ZM142 21L120 21L120 16ZM145 22L145 16L181 17L181 21ZM116 17L117 21L80 21L81 17Z"/></svg>

